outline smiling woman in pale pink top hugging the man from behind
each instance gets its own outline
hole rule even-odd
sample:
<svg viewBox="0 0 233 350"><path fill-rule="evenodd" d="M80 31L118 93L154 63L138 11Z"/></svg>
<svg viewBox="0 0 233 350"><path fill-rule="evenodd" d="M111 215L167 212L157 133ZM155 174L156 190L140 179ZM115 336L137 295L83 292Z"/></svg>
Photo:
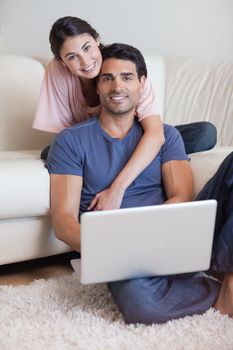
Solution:
<svg viewBox="0 0 233 350"><path fill-rule="evenodd" d="M59 133L99 113L95 78L102 64L101 44L96 30L77 17L58 19L52 26L49 40L55 58L46 70L33 127ZM148 79L137 107L137 116L144 129L141 141L112 185L96 194L90 210L119 208L126 188L163 145L163 126ZM42 152L43 159L46 159L47 151L48 148Z"/></svg>

